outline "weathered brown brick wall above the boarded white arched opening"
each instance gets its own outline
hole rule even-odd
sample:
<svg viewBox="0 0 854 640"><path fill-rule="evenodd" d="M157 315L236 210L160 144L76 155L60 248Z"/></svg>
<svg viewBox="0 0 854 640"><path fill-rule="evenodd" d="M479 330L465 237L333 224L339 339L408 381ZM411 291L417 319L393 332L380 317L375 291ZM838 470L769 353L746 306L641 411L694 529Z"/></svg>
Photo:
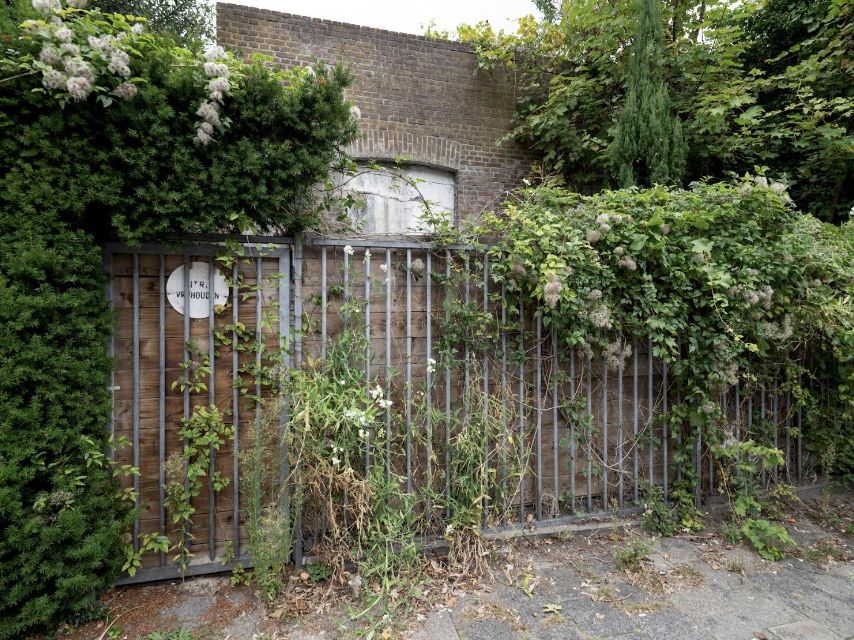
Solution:
<svg viewBox="0 0 854 640"><path fill-rule="evenodd" d="M284 67L343 61L355 73L348 98L362 113L348 151L358 160L412 162L455 172L458 216L493 206L518 186L532 156L497 140L511 127L512 71L477 72L467 46L404 33L217 4L219 43Z"/></svg>

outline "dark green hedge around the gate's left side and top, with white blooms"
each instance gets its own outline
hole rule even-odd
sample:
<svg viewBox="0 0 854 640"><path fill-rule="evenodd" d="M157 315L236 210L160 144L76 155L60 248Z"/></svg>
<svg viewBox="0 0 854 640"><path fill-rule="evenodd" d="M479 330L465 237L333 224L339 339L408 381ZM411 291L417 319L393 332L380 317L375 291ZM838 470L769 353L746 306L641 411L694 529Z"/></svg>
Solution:
<svg viewBox="0 0 854 640"><path fill-rule="evenodd" d="M19 4L0 15L2 639L86 615L123 560L138 565L135 496L113 478L135 470L105 455L97 242L303 229L355 133L341 67L202 57L82 0L35 2L10 31Z"/></svg>

